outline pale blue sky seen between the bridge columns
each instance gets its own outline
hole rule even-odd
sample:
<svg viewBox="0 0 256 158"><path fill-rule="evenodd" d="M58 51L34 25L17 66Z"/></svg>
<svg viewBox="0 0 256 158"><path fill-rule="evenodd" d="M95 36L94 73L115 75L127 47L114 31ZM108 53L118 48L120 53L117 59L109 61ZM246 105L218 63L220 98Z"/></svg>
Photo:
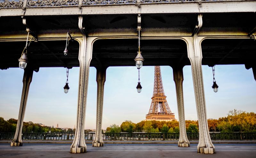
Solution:
<svg viewBox="0 0 256 158"><path fill-rule="evenodd" d="M256 112L256 82L252 69L244 65L217 65L215 79L219 86L212 90L212 68L202 66L206 111L208 118L226 117L229 110ZM0 117L18 118L24 70L0 70ZM170 109L178 119L175 84L172 68L161 66L164 93ZM184 108L186 120L197 120L191 66L183 68ZM154 87L154 66L140 69L141 93L137 93L136 66L109 67L104 87L102 129L125 120L138 123L145 119L150 108ZM77 111L79 67L69 70L69 91L64 93L66 68L40 68L34 72L30 85L24 121L47 126L74 128ZM90 67L86 105L85 129L96 127L96 69Z"/></svg>

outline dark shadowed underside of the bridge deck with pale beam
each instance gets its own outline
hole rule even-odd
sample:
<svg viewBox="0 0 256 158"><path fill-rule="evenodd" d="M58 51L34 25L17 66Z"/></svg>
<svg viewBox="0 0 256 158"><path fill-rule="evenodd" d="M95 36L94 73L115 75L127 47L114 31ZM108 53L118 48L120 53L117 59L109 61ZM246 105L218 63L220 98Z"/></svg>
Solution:
<svg viewBox="0 0 256 158"><path fill-rule="evenodd" d="M206 13L199 36L233 35L234 39L206 39L201 43L203 65L252 65L255 41L239 36L255 31L256 13ZM191 36L197 23L197 14L142 15L141 51L144 65L190 65L186 42L178 37ZM1 17L0 68L18 67L18 58L25 46L26 26L21 17ZM133 66L138 51L137 15L84 15L83 23L89 37L111 35L119 39L100 39L93 43L90 66L98 62L106 66ZM68 55L63 55L65 36L81 36L77 16L26 16L27 25L38 41L28 47L29 64L36 67L79 66L79 43L70 41ZM209 31L211 30L211 31ZM51 34L60 34L60 39ZM50 34L47 36L47 34ZM162 36L159 38L159 36ZM155 38L155 39L154 39ZM157 39L158 38L158 39ZM177 39L170 39L177 38ZM221 38L221 37L220 37Z"/></svg>

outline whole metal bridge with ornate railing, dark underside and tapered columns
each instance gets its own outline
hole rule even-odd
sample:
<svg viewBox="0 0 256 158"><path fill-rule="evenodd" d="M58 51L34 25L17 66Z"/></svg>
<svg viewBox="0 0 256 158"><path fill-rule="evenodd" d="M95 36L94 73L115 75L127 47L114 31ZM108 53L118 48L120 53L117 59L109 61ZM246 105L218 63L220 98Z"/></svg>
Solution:
<svg viewBox="0 0 256 158"><path fill-rule="evenodd" d="M71 153L86 152L84 118L89 67L97 69L97 126L93 146L103 146L102 106L106 69L135 66L140 35L143 65L169 65L176 85L180 137L188 147L183 72L191 65L199 122L197 152L213 154L207 124L202 65L244 64L256 79L255 0L0 0L0 68L18 67L26 41L28 58L17 130L21 128L33 71L80 67L76 133ZM140 31L140 32L138 32ZM69 34L68 34L69 33ZM28 38L29 37L29 38ZM68 55L63 54L67 46ZM27 44L26 44L27 47Z"/></svg>

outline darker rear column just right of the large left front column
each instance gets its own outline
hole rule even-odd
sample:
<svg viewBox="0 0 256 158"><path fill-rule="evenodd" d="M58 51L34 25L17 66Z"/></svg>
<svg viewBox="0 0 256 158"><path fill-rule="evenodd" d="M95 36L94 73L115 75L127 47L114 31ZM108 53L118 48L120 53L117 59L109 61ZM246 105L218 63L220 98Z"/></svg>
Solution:
<svg viewBox="0 0 256 158"><path fill-rule="evenodd" d="M101 134L102 125L102 109L103 109L103 95L104 95L104 84L106 81L106 67L99 66L97 69L97 118L96 118L96 133L95 138L92 142L93 147L102 147L103 140Z"/></svg>

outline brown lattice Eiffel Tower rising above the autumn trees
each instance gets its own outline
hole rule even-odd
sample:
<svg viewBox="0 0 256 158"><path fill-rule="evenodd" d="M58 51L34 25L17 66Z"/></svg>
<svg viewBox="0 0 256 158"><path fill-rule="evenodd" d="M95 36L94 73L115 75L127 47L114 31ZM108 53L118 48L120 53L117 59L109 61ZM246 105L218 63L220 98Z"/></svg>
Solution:
<svg viewBox="0 0 256 158"><path fill-rule="evenodd" d="M172 121L176 120L164 95L160 66L155 66L155 80L152 102L146 120Z"/></svg>

